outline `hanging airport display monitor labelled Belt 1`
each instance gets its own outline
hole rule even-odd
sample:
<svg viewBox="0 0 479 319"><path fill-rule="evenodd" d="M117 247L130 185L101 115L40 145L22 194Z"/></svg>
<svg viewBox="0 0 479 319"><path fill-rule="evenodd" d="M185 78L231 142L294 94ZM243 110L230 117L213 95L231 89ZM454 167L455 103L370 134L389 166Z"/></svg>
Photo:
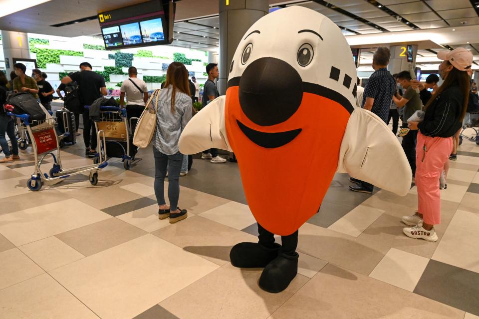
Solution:
<svg viewBox="0 0 479 319"><path fill-rule="evenodd" d="M174 0L150 0L98 14L105 48L142 47L173 41Z"/></svg>

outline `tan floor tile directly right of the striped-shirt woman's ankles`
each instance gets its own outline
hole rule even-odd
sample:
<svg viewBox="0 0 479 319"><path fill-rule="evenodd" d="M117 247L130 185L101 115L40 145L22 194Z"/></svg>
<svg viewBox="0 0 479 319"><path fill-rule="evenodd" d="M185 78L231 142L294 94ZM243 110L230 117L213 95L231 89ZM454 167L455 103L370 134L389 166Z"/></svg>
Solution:
<svg viewBox="0 0 479 319"><path fill-rule="evenodd" d="M180 186L179 205L187 209L189 213L200 214L228 202L230 202L228 199Z"/></svg>

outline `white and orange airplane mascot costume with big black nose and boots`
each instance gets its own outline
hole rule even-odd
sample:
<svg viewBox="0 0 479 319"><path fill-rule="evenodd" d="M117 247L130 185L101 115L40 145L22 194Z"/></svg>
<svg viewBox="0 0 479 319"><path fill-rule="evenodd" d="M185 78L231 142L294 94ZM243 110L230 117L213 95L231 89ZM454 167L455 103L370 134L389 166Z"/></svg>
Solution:
<svg viewBox="0 0 479 319"><path fill-rule="evenodd" d="M401 196L410 189L397 138L375 114L355 107L356 79L336 24L308 8L282 8L244 34L226 96L203 108L180 137L183 154L236 154L259 240L235 245L230 260L264 268L258 284L267 292L283 291L296 276L298 229L318 211L336 172Z"/></svg>

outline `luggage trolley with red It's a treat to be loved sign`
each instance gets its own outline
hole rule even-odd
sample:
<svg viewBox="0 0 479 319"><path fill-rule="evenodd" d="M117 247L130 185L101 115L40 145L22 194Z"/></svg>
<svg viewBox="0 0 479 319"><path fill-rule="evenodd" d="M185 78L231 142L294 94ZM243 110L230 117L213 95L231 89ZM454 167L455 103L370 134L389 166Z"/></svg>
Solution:
<svg viewBox="0 0 479 319"><path fill-rule="evenodd" d="M106 159L101 157L101 155L99 158L99 163L71 168L68 170L63 169L60 159L59 141L61 141L65 136L68 136L69 133L57 136L54 118L34 121L30 120L30 116L28 114L7 114L20 119L21 129L26 129L28 135L31 137L31 146L35 156L35 170L26 184L31 191L40 190L42 183L45 185L55 185L67 177L86 172L90 172L89 180L91 185L96 185L98 183L98 171L108 165ZM100 137L98 136L97 139L99 142ZM53 154L55 149L56 156ZM40 165L47 155L51 155L54 162L53 167L49 171L49 175L43 173L40 169Z"/></svg>

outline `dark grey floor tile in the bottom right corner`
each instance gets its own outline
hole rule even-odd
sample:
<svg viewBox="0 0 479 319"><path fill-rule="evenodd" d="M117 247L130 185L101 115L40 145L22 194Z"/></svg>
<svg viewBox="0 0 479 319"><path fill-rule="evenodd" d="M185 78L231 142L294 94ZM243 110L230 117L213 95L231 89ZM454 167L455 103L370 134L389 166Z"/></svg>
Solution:
<svg viewBox="0 0 479 319"><path fill-rule="evenodd" d="M479 316L479 274L430 260L414 293Z"/></svg>

